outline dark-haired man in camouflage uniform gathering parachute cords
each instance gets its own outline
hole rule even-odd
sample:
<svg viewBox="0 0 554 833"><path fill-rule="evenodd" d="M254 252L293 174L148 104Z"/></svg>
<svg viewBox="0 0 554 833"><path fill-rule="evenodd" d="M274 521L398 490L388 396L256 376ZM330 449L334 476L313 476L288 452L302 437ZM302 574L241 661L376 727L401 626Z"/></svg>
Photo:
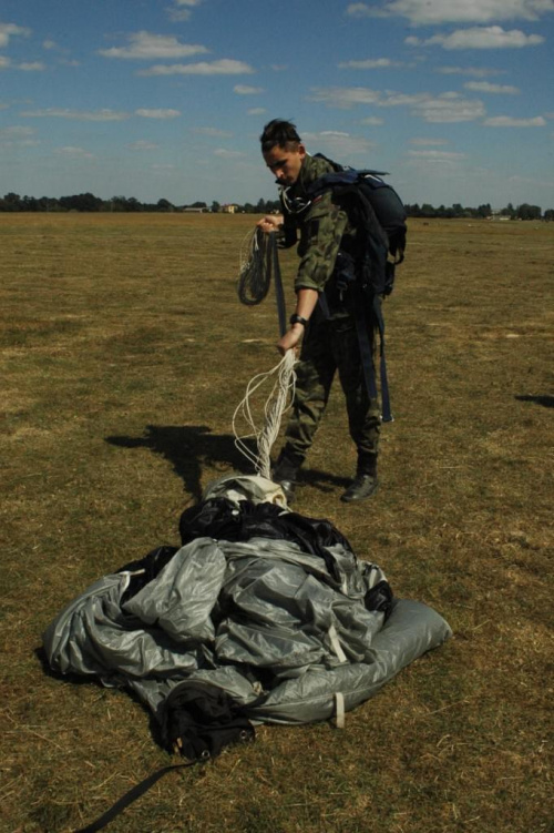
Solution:
<svg viewBox="0 0 554 833"><path fill-rule="evenodd" d="M296 311L290 329L278 343L285 354L301 341L300 362L286 444L273 479L280 482L291 502L298 470L314 441L338 370L350 436L358 450L356 476L341 500L362 500L377 488L380 412L365 382L352 293L339 280L343 253L353 251L356 228L347 213L334 204L329 191L309 199L308 186L334 169L328 160L306 152L294 124L277 119L269 122L260 142L266 165L280 186L283 215L266 216L258 226L278 233L285 247L295 245L300 234Z"/></svg>

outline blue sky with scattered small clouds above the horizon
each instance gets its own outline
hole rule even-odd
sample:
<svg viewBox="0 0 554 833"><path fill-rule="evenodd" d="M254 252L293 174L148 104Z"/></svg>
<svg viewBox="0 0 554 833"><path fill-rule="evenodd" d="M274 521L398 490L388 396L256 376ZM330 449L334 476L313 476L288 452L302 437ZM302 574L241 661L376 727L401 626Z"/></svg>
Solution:
<svg viewBox="0 0 554 833"><path fill-rule="evenodd" d="M554 0L2 0L0 194L276 195L269 119L408 203L554 207Z"/></svg>

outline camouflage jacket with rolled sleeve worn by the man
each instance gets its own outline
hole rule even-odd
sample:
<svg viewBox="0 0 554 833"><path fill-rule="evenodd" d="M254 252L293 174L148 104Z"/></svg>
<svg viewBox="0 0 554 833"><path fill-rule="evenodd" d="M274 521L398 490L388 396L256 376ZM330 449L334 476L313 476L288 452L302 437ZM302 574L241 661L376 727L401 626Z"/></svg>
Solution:
<svg viewBox="0 0 554 833"><path fill-rule="evenodd" d="M325 159L307 155L300 169L297 182L281 191L280 202L285 219L281 245L291 246L298 243L300 263L295 281L295 289L317 289L326 295L332 294L330 278L340 247L348 248L348 237L356 235L348 216L331 200L331 193L325 193L314 200L304 211L308 196L306 189L319 176L334 169ZM300 209L300 210L298 210ZM334 304L335 306L335 304Z"/></svg>

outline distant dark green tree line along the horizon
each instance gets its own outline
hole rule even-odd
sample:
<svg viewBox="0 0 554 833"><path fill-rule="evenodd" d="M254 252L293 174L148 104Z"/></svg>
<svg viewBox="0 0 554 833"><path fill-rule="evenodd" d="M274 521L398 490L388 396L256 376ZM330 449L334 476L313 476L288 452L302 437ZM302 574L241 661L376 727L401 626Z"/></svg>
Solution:
<svg viewBox="0 0 554 833"><path fill-rule="evenodd" d="M90 192L84 194L73 194L72 196L20 196L13 192L0 197L0 212L184 212L202 211L218 213L226 211L229 206L220 205L217 201L208 206L205 202L194 202L189 205L174 205L168 200L158 200L155 203L145 203L136 200L134 196L112 196L110 200L102 200ZM278 200L258 200L257 203L234 204L234 211L242 214L270 214L280 210ZM522 203L514 206L509 203L500 211L493 211L490 203L479 205L476 209L464 207L461 203L454 203L450 207L440 205L435 209L429 203L407 204L406 212L409 217L441 217L441 219L489 219L493 216L505 217L507 220L554 220L554 210L547 209L542 211L538 205Z"/></svg>

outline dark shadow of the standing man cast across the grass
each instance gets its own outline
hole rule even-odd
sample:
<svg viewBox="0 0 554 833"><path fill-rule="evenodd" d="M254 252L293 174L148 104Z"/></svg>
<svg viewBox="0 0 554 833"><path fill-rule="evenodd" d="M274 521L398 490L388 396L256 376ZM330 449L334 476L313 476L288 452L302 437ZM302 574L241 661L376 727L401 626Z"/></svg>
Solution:
<svg viewBox="0 0 554 833"><path fill-rule="evenodd" d="M206 425L147 425L142 437L106 437L106 443L121 448L148 448L160 454L173 466L184 482L185 490L196 500L202 499L203 466L225 467L243 475L254 474L254 467L235 446L230 434L212 434ZM255 450L254 443L250 449ZM345 477L318 469L302 469L299 482L320 491L346 487Z"/></svg>

